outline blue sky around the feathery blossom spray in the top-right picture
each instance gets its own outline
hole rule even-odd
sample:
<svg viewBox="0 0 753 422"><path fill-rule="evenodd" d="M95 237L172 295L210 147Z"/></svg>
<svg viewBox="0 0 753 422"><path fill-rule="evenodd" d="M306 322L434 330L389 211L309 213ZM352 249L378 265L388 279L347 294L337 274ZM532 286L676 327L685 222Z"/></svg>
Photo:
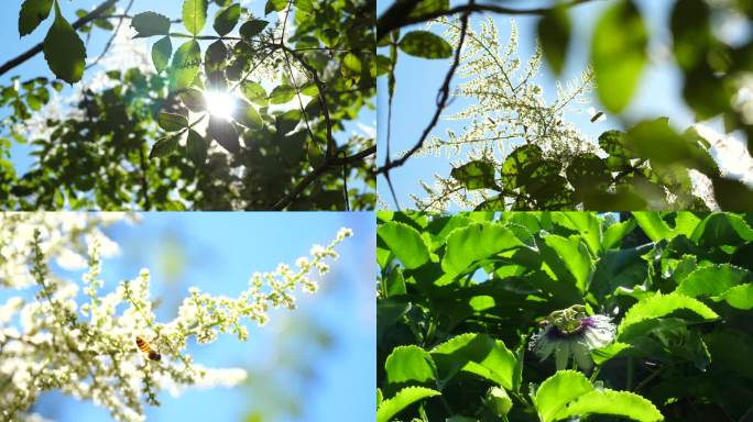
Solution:
<svg viewBox="0 0 753 422"><path fill-rule="evenodd" d="M381 11L391 4L392 1L380 0L378 9ZM451 0L451 4L465 3L462 1ZM572 43L568 55L567 67L561 77L561 81L576 79L579 73L588 63L588 54L590 46L590 34L592 33L596 19L601 14L601 11L612 2L609 1L593 1L572 8L570 18L574 22ZM655 1L655 0L639 0L636 1L642 11L648 31L651 33L650 51L656 52L662 48L668 48L670 41L670 33L668 32L667 22L672 11L672 1ZM526 9L530 7L541 7L552 4L550 1L516 1L505 2L505 5L514 8ZM479 14L473 15L471 22L474 27L478 27ZM501 31L501 40L505 41L510 34L510 16L495 15L495 23ZM515 16L515 23L519 29L519 54L522 60L530 57L534 51L534 40L536 37L537 18L520 15ZM422 29L422 25L414 25L412 29ZM408 30L403 30L403 33ZM437 30L434 30L437 31ZM401 53L396 68L396 92L392 111L392 153L408 149L413 146L421 133L428 124L432 115L436 110L437 90L447 73L450 60L428 60L408 56ZM524 62L525 63L525 62ZM457 82L459 79L455 79ZM547 100L554 99L556 77L549 71L546 65L542 66L539 76L536 81L543 87ZM385 134L386 134L386 78L380 78L378 82L379 88L379 116L378 116L378 160L379 165L384 163L385 154ZM598 100L593 99L593 106L598 109ZM469 100L458 99L452 102L445 111L446 115L461 110L470 103ZM636 121L640 119L656 118L659 115L669 116L670 123L680 130L685 130L692 124L692 114L681 101L681 79L680 74L672 64L672 62L654 62L643 74L642 82L639 91L633 98L630 108L625 112L629 121ZM610 129L621 129L616 119L610 119L599 123L590 123L589 115L582 114L566 114L566 119L578 126L581 132L589 137L596 140L599 134ZM445 121L440 120L435 127L433 134L444 135L447 129L452 129L456 133L461 133L462 121ZM393 186L396 190L397 198L402 208L411 208L414 206L410 199L410 193L416 193L419 197L425 197L423 189L418 185L418 180L428 181L433 185L433 175L440 174L448 176L451 169L450 160L445 156L436 157L415 157L402 167L391 171ZM394 208L394 201L390 195L388 185L384 178L380 177L378 180L378 191L380 197L390 206Z"/></svg>

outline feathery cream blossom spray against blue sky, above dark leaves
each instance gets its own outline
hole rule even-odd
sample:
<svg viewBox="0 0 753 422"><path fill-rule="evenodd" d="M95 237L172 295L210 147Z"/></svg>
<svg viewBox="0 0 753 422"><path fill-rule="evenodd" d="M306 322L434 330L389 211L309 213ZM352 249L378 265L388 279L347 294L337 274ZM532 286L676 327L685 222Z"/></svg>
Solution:
<svg viewBox="0 0 753 422"><path fill-rule="evenodd" d="M444 37L459 44L461 25L457 19L440 18L430 25L441 26ZM462 133L447 131L445 137L427 138L418 155L457 157L454 167L482 160L500 168L510 153L522 144L542 148L545 156L569 163L574 156L599 152L598 145L566 120L568 113L580 113L589 101L592 70L565 86L557 84L556 98L548 101L537 84L543 53L539 46L523 63L517 54L517 27L510 21L506 44L493 18L480 21L479 30L469 25L460 56L458 76L463 80L452 91L455 98L472 99L473 103L447 116L468 122ZM434 185L421 181L426 198L412 195L415 207L423 211L446 211L452 203L468 209L490 198L492 192L469 191L452 177L434 176Z"/></svg>

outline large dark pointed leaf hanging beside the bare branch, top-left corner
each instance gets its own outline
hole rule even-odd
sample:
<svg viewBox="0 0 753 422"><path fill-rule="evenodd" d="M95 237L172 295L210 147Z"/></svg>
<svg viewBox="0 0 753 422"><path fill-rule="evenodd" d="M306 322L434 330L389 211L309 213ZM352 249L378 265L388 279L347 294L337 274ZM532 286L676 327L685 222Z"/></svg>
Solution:
<svg viewBox="0 0 753 422"><path fill-rule="evenodd" d="M44 38L43 49L47 66L58 79L68 84L81 80L86 47L55 3L55 21Z"/></svg>

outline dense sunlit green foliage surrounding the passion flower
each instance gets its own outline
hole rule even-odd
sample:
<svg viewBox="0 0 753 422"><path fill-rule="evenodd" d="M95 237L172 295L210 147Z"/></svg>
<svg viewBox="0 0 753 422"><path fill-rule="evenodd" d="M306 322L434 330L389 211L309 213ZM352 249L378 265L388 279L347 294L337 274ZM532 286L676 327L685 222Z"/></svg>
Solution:
<svg viewBox="0 0 753 422"><path fill-rule="evenodd" d="M380 212L378 420L740 420L753 398L752 224L689 211ZM590 378L526 347L538 321L572 304L618 324Z"/></svg>

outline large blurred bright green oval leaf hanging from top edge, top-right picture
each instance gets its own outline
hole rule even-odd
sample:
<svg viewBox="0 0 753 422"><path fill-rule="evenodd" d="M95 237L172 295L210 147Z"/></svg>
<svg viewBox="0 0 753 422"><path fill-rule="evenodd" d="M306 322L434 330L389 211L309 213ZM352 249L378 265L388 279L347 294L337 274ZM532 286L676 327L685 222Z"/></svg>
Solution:
<svg viewBox="0 0 753 422"><path fill-rule="evenodd" d="M601 103L621 112L635 92L646 64L648 35L632 0L610 5L597 22L591 43L591 62Z"/></svg>

